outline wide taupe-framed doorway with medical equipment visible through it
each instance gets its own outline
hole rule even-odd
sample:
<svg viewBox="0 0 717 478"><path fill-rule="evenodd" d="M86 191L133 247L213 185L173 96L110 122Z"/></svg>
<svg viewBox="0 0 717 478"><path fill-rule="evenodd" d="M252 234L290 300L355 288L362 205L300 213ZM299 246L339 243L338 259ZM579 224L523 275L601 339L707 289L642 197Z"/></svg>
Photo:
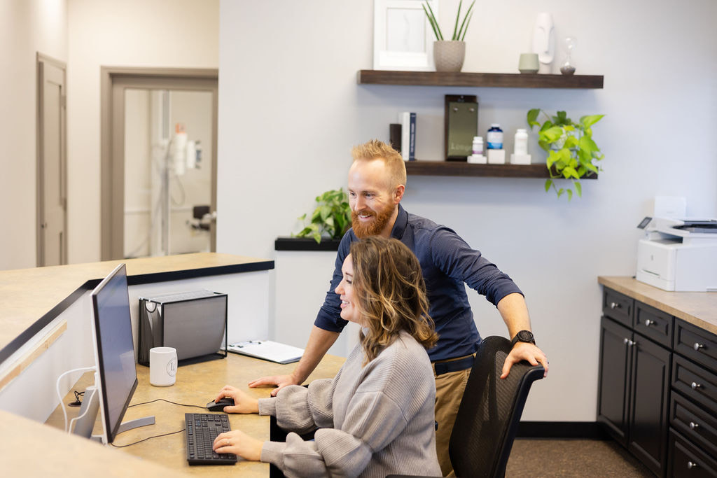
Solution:
<svg viewBox="0 0 717 478"><path fill-rule="evenodd" d="M102 259L214 252L217 70L102 79Z"/></svg>

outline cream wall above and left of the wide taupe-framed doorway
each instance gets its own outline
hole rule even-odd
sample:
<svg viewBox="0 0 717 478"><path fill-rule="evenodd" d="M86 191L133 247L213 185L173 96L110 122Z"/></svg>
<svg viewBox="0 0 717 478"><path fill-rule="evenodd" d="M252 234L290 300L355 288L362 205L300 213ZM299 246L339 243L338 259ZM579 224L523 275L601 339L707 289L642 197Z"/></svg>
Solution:
<svg viewBox="0 0 717 478"><path fill-rule="evenodd" d="M100 259L100 67L219 66L218 0L69 0L68 256Z"/></svg>

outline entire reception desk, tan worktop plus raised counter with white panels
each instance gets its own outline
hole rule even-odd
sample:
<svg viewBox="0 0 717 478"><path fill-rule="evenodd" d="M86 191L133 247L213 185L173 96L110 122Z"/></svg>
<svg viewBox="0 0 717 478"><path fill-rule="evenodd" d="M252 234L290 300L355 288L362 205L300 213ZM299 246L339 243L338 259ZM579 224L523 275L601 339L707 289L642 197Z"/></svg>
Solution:
<svg viewBox="0 0 717 478"><path fill-rule="evenodd" d="M268 273L274 262L267 259L200 253L0 271L0 446L4 472L9 476L58 472L267 476L267 464L241 460L227 467L189 467L184 431L122 449L61 431L64 419L55 392L57 378L65 371L94 365L90 292L120 262L127 265L135 341L138 297L197 289L227 293L229 342L268 337ZM331 377L341 363L343 358L327 355L309 379ZM130 404L164 398L201 406L227 383L243 387L253 378L290 373L293 367L229 354L224 359L185 365L179 368L174 386L160 388L148 383L148 368L138 365L138 388ZM91 377L92 373L77 372L61 380L63 401L69 401L72 391L90 385ZM270 394L270 388L247 391L257 397ZM117 436L115 444L180 431L187 412L206 413L206 409L164 401L128 408L125 420L153 415L156 424L126 431ZM76 414L77 409L70 408L68 416ZM269 437L267 417L232 415L231 425L257 439Z"/></svg>

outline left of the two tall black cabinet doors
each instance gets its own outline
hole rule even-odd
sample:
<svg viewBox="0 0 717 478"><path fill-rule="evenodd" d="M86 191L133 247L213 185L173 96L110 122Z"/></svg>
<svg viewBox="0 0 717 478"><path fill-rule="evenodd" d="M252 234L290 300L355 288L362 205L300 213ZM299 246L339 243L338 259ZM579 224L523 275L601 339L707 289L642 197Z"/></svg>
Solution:
<svg viewBox="0 0 717 478"><path fill-rule="evenodd" d="M602 317L597 419L623 446L627 446L632 332Z"/></svg>

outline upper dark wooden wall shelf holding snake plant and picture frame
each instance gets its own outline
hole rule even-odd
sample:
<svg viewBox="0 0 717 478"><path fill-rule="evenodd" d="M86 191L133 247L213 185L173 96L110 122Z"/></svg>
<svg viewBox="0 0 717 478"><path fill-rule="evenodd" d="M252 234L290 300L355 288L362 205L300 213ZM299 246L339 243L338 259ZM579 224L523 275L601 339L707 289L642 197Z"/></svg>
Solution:
<svg viewBox="0 0 717 478"><path fill-rule="evenodd" d="M499 88L602 88L602 75L522 73L397 72L359 70L362 85L467 86Z"/></svg>

